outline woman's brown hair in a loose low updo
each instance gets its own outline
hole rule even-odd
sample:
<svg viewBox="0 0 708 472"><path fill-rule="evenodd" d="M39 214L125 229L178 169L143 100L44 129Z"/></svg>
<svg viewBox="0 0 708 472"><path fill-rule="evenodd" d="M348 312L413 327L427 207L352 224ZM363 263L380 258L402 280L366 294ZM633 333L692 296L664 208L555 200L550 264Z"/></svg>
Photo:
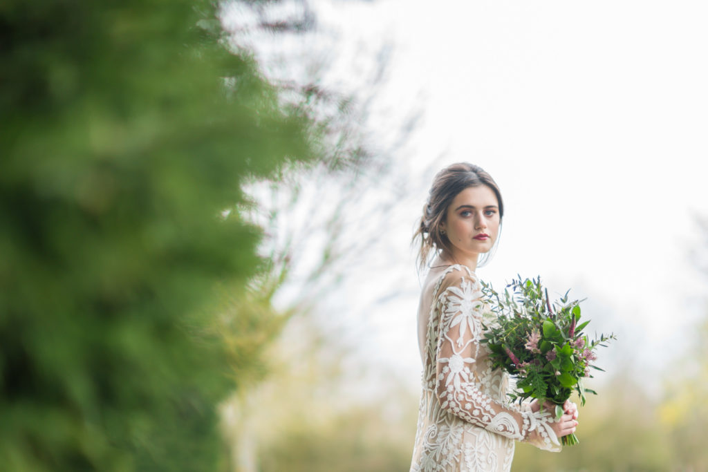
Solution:
<svg viewBox="0 0 708 472"><path fill-rule="evenodd" d="M469 187L486 185L491 188L499 202L499 218L504 216L504 203L498 185L489 173L479 166L467 162L452 164L438 172L430 186L428 201L423 206L421 224L413 234L413 243L421 239L421 248L418 252L418 264L421 269L425 267L431 250L451 253L450 240L440 231L442 222L447 215L447 207L459 192ZM486 262L486 259L483 260Z"/></svg>

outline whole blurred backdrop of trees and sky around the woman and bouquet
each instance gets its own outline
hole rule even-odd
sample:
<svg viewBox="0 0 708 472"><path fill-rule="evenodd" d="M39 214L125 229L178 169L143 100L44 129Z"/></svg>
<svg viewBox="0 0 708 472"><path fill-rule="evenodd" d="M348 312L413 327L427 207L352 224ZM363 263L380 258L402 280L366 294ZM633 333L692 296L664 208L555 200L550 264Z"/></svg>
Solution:
<svg viewBox="0 0 708 472"><path fill-rule="evenodd" d="M479 275L571 289L581 444L518 471L708 470L708 6L0 7L0 463L406 471L411 234L500 185Z"/></svg>

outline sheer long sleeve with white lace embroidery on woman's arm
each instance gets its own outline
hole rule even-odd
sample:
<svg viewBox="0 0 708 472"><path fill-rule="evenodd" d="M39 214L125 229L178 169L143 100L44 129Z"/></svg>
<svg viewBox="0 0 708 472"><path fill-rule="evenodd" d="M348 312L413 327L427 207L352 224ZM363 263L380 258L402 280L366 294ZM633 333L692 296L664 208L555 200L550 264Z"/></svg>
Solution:
<svg viewBox="0 0 708 472"><path fill-rule="evenodd" d="M476 365L480 350L486 348L479 344L483 303L474 273L451 272L445 282L447 288L436 301L440 308L436 393L442 409L496 434L559 451L549 412L520 410L485 393L489 374Z"/></svg>

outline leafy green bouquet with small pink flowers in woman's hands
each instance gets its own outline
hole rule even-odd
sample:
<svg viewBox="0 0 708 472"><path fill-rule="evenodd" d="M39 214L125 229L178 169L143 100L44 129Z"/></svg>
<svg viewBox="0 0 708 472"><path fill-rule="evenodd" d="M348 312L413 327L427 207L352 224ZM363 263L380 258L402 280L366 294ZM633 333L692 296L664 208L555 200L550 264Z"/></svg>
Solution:
<svg viewBox="0 0 708 472"><path fill-rule="evenodd" d="M600 369L595 361L595 350L615 335L600 335L590 340L583 333L589 321L581 319L580 302L569 301L568 292L558 301L551 301L541 278L512 280L498 294L491 284L482 282L486 303L496 313L496 321L483 323L484 338L489 346L493 368L506 369L515 378L516 386L509 396L513 401L536 398L556 404L555 415L563 414L562 405L573 391L578 393L581 405L586 393L582 379L592 377L590 369ZM541 407L543 408L543 406ZM578 444L575 434L562 438L564 445Z"/></svg>

